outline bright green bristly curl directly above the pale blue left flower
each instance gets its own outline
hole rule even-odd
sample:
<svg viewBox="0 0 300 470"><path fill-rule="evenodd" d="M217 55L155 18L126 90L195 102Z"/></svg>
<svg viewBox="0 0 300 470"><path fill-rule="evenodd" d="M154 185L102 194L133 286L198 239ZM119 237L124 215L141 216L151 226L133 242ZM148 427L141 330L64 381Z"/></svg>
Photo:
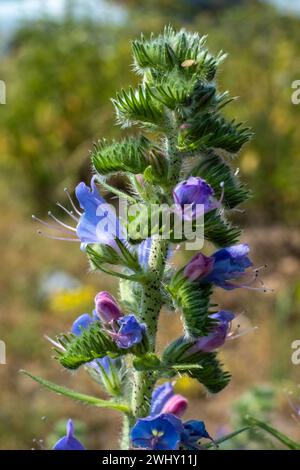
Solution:
<svg viewBox="0 0 300 470"><path fill-rule="evenodd" d="M150 141L144 136L128 138L121 142L98 141L91 153L92 163L100 175L114 172L143 173L149 165L147 152Z"/></svg>

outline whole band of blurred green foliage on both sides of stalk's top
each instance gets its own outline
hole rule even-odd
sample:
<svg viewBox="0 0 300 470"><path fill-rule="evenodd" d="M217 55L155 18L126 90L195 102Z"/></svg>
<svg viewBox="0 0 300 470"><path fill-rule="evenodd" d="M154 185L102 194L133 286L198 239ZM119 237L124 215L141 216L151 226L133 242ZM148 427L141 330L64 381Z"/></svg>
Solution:
<svg viewBox="0 0 300 470"><path fill-rule="evenodd" d="M0 114L2 166L21 176L19 188L31 203L48 206L64 185L87 174L92 142L118 135L109 98L129 82L128 39L166 22L193 23L209 35L209 47L230 54L221 86L242 97L234 113L255 132L240 158L254 193L250 212L263 223L299 224L300 105L291 102L291 85L299 79L300 19L258 1L216 0L208 10L205 1L121 3L130 8L122 25L70 12L60 21L25 24L0 65L8 84ZM231 5L238 7L219 8Z"/></svg>

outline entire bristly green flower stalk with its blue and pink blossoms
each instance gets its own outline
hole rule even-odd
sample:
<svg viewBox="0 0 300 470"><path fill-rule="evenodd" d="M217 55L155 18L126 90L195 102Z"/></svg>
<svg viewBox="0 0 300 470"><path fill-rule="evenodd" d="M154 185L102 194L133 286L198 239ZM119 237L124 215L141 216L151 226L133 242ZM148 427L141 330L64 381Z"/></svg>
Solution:
<svg viewBox="0 0 300 470"><path fill-rule="evenodd" d="M210 393L226 387L230 374L217 350L232 337L234 313L212 303L213 289L264 290L255 286L258 271L248 245L239 243L240 230L228 221L249 197L230 161L251 132L223 114L232 101L216 84L225 54L211 55L205 37L168 27L158 37L133 41L132 53L141 83L122 90L113 104L118 124L139 127L141 133L95 145L91 187L76 187L77 202L67 192L70 210L59 204L73 225L52 213L54 226L34 217L47 229L59 230L57 237L46 236L80 242L93 270L120 280L118 300L109 292L97 293L94 311L52 341L61 366L84 367L110 398L83 395L27 374L62 395L122 413L123 449L201 449L211 445L205 443L211 437L202 421L183 420L188 403L173 383L187 374ZM109 184L115 173L126 177L127 192ZM101 187L126 201L137 236L128 236L126 222L106 204ZM130 211L136 204L147 210ZM154 227L149 223L153 204L173 207L167 236L162 212ZM180 212L185 206L187 216ZM210 256L198 252L176 269L170 259L187 241L183 232L175 233L178 214L193 228L201 226L215 249ZM183 333L159 354L156 335L164 305L174 315L180 312ZM69 421L55 448L82 449L73 432Z"/></svg>

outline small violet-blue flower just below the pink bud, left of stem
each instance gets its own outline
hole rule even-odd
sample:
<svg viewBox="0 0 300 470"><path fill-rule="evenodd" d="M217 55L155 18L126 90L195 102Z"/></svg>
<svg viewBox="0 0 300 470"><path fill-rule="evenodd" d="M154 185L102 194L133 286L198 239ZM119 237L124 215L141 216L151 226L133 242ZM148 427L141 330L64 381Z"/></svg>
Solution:
<svg viewBox="0 0 300 470"><path fill-rule="evenodd" d="M106 330L119 348L128 349L142 341L146 326L139 323L134 315L126 315L116 320L118 331Z"/></svg>

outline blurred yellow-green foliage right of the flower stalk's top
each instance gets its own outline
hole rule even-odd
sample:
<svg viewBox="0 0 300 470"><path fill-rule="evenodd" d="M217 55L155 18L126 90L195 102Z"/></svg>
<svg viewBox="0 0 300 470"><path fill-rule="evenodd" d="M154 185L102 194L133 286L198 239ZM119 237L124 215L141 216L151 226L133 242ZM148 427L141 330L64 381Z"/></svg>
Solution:
<svg viewBox="0 0 300 470"><path fill-rule="evenodd" d="M230 54L222 85L241 96L238 117L255 132L240 166L256 215L262 223L299 224L300 106L291 95L299 79L300 19L250 5L226 12L209 27L201 19L197 23L209 34L209 44Z"/></svg>

